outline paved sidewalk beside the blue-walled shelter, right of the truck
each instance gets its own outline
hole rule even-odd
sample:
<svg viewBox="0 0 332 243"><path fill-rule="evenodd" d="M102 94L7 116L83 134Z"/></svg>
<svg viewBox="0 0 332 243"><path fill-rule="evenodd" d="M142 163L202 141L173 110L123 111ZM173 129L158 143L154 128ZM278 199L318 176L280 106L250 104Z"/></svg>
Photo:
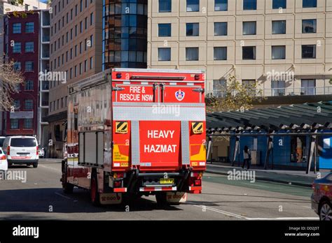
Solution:
<svg viewBox="0 0 332 243"><path fill-rule="evenodd" d="M236 169L243 170L241 167L230 166L229 163L214 163L207 164L208 173L219 174L219 175L228 175L228 171ZM264 170L261 167L252 166L250 170L256 171L256 179L261 181L268 182L277 182L283 184L292 184L296 186L305 186L311 187L314 179L317 179L317 174L314 172L310 172L309 175L305 173L305 171L299 170ZM320 172L321 177L324 177L328 172Z"/></svg>

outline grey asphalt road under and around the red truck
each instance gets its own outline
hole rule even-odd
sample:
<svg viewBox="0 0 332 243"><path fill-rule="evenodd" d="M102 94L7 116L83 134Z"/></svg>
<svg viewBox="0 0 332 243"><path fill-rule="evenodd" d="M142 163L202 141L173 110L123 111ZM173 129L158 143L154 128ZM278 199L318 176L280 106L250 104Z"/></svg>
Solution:
<svg viewBox="0 0 332 243"><path fill-rule="evenodd" d="M40 161L38 168L0 181L0 220L318 220L310 208L311 189L272 182L230 181L205 174L203 193L185 204L160 207L155 197L127 200L123 205L93 207L88 191L62 193L61 164Z"/></svg>

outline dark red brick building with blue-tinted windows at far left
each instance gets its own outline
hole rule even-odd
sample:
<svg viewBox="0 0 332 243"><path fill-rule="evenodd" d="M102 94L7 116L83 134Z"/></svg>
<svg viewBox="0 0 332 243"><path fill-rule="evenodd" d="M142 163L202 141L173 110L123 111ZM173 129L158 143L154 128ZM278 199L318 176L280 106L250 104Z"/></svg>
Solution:
<svg viewBox="0 0 332 243"><path fill-rule="evenodd" d="M13 109L3 117L3 135L37 135L39 107L39 12L4 18L4 62L14 61L25 81L12 95Z"/></svg>

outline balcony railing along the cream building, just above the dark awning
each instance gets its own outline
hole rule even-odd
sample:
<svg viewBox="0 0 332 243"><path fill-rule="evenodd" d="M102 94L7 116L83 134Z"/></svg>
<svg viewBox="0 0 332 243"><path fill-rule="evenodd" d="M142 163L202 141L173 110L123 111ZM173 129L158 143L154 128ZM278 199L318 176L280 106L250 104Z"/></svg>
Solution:
<svg viewBox="0 0 332 243"><path fill-rule="evenodd" d="M263 89L263 96L314 96L314 95L328 95L332 94L332 86L328 87L301 87L301 88L271 88ZM216 97L222 98L225 95L223 90L207 91L208 98Z"/></svg>

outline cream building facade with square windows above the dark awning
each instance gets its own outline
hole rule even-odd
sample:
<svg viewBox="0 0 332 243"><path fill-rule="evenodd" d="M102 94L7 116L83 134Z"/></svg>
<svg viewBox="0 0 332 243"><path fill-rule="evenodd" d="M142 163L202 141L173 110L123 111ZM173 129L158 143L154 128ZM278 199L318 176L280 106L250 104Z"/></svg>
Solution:
<svg viewBox="0 0 332 243"><path fill-rule="evenodd" d="M209 96L235 75L264 96L331 99L331 26L332 1L149 0L148 68L203 69Z"/></svg>

